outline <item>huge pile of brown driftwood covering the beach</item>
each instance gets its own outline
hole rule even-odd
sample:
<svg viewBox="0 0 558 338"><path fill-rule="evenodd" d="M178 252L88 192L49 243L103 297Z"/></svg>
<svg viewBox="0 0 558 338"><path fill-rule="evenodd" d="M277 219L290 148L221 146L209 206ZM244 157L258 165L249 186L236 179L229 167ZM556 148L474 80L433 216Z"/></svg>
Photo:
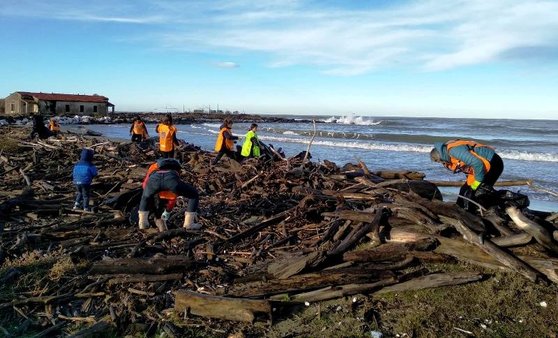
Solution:
<svg viewBox="0 0 558 338"><path fill-rule="evenodd" d="M303 156L210 166L213 154L183 145L181 175L200 191L203 228L180 228L186 205L179 202L169 230L140 232L128 223L129 206L102 203L140 186L157 156L152 142L38 141L20 128L2 131L0 259L56 254L79 267L11 297L0 289L6 336L33 329L45 337L82 323L73 337L107 330L172 337L182 330L173 316L202 326L211 325L204 318L271 324L305 302L483 279L421 266L432 262L461 260L558 283L556 214L513 207L469 214L442 202L417 172L370 172L358 160L339 167ZM82 147L96 151L96 213L71 209ZM24 275L17 267L0 271L4 290Z"/></svg>

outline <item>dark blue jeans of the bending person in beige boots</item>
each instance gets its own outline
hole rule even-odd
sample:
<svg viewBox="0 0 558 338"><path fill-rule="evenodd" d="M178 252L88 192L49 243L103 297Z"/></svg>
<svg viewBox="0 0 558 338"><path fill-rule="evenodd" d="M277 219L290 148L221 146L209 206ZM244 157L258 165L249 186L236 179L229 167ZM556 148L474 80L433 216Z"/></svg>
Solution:
<svg viewBox="0 0 558 338"><path fill-rule="evenodd" d="M140 211L149 211L149 205L153 197L160 191L172 191L177 196L188 198L188 212L195 212L199 203L199 193L190 184L180 179L179 175L172 170L156 171L149 176L145 184Z"/></svg>

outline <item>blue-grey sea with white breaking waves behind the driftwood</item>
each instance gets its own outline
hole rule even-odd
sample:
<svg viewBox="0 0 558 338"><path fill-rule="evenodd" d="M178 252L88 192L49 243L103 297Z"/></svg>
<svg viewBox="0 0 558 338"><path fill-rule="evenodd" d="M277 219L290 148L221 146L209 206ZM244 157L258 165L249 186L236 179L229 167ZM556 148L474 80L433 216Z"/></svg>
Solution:
<svg viewBox="0 0 558 338"><path fill-rule="evenodd" d="M424 172L425 179L462 180L430 161L435 142L466 139L495 147L504 160L501 180L533 179L534 185L558 192L558 121L527 119L448 119L419 117L292 116L315 119L317 133L310 154L312 161L329 160L339 166L356 163L358 157L370 170L413 170ZM156 135L155 124L148 124ZM220 123L177 124L178 138L213 151ZM236 135L248 131L248 123L233 125ZM128 124L98 124L87 128L107 137L129 138ZM306 150L312 137L311 123L259 124L260 140L281 147L287 156ZM558 211L558 198L528 186L510 189L527 194L536 210ZM455 200L457 188L442 187L444 200Z"/></svg>

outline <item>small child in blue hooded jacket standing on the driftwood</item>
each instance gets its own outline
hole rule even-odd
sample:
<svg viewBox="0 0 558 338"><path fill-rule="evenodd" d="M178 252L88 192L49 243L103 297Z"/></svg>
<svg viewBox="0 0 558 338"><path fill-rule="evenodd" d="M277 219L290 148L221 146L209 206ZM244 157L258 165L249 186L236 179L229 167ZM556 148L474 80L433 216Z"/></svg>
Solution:
<svg viewBox="0 0 558 338"><path fill-rule="evenodd" d="M91 193L91 182L93 177L98 175L97 167L93 164L93 150L82 149L80 161L77 161L73 171L73 181L77 196L75 198L74 209L89 210L89 193ZM83 204L82 204L83 202Z"/></svg>

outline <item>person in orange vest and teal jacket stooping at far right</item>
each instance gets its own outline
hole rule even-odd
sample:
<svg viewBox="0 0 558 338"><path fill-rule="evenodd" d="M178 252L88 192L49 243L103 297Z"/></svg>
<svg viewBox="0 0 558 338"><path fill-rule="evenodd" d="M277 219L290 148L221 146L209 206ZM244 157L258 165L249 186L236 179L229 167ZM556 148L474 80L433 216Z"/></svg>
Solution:
<svg viewBox="0 0 558 338"><path fill-rule="evenodd" d="M494 148L466 140L437 142L430 151L430 159L442 163L453 172L465 172L467 182L463 184L459 194L480 205L490 205L493 186L504 171L504 162ZM474 210L474 206L463 198L458 198L457 203L468 210Z"/></svg>

